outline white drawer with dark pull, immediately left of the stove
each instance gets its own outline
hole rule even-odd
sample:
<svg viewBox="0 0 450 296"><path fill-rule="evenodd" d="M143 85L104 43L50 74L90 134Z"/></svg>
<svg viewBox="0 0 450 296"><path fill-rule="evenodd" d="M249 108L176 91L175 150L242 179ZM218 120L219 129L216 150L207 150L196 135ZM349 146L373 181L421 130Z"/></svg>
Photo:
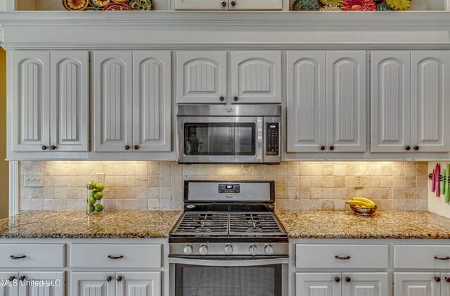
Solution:
<svg viewBox="0 0 450 296"><path fill-rule="evenodd" d="M70 266L156 269L161 267L161 245L74 244Z"/></svg>

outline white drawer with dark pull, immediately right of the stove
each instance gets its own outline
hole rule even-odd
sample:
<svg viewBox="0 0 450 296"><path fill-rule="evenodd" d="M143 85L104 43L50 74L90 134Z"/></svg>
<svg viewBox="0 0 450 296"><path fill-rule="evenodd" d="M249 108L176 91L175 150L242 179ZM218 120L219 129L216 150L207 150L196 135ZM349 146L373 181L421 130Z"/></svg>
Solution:
<svg viewBox="0 0 450 296"><path fill-rule="evenodd" d="M388 247L296 245L295 264L297 269L387 269Z"/></svg>

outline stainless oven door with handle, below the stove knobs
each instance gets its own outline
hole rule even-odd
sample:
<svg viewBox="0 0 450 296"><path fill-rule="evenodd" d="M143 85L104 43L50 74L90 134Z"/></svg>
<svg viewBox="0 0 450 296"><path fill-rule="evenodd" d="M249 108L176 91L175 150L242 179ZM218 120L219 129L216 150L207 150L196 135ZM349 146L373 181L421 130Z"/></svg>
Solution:
<svg viewBox="0 0 450 296"><path fill-rule="evenodd" d="M287 296L288 259L169 258L170 296Z"/></svg>

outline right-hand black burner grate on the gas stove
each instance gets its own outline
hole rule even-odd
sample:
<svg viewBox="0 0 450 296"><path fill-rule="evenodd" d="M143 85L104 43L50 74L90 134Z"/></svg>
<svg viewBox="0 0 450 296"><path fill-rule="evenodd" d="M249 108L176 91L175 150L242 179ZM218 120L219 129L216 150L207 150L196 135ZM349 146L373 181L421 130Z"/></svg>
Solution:
<svg viewBox="0 0 450 296"><path fill-rule="evenodd" d="M230 212L230 236L278 236L283 234L271 212Z"/></svg>

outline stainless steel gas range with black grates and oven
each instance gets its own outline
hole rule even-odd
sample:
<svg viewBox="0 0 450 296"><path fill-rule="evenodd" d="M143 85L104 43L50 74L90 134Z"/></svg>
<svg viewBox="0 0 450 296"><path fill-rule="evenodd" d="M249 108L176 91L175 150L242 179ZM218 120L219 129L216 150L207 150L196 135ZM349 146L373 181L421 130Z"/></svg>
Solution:
<svg viewBox="0 0 450 296"><path fill-rule="evenodd" d="M169 234L171 295L288 294L288 235L274 181L185 181Z"/></svg>

